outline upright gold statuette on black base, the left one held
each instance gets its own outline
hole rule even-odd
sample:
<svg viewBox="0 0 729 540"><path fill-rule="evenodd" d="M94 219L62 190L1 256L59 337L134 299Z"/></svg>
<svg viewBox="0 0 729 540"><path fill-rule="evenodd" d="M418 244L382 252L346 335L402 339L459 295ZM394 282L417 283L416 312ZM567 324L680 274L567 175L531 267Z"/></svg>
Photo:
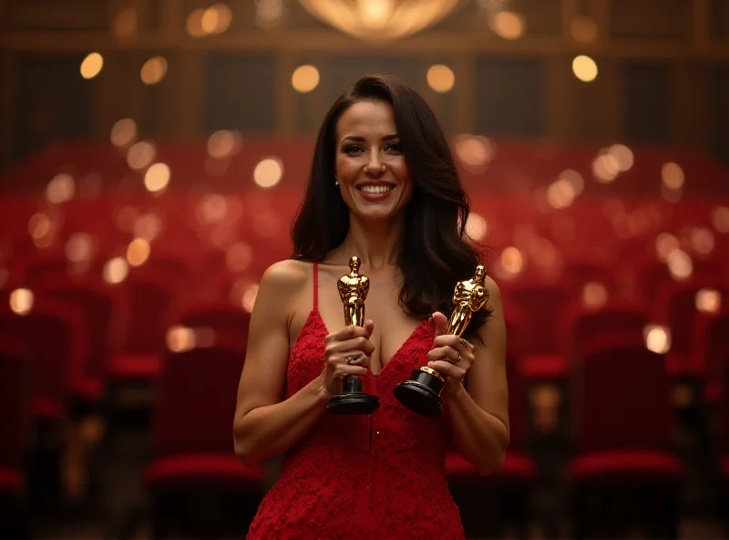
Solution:
<svg viewBox="0 0 729 540"><path fill-rule="evenodd" d="M364 326L364 299L370 290L370 280L366 275L360 275L359 266L359 257L351 257L349 274L340 277L336 284L344 306L344 325L347 327ZM357 358L347 358L350 359ZM342 393L329 400L326 408L334 414L372 414L380 406L380 400L364 393L363 380L358 375L345 375Z"/></svg>

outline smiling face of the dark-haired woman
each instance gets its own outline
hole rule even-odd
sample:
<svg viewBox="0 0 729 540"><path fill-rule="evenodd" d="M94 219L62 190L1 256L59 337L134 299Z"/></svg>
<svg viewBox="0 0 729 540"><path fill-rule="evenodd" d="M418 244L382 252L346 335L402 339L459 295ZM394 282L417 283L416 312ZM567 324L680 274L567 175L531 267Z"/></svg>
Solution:
<svg viewBox="0 0 729 540"><path fill-rule="evenodd" d="M364 221L393 218L413 194L392 107L364 100L337 124L336 180L344 203Z"/></svg>

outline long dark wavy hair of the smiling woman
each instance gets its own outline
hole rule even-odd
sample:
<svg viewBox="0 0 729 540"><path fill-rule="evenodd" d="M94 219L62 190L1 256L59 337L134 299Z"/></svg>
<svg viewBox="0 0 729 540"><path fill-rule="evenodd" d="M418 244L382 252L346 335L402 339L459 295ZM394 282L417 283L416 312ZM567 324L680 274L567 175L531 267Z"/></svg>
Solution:
<svg viewBox="0 0 729 540"><path fill-rule="evenodd" d="M349 208L334 185L337 124L346 109L365 99L389 103L414 189L406 205L396 264L402 283L400 304L413 317L426 318L453 309L453 289L468 279L479 254L465 238L468 198L436 115L417 92L395 78L367 75L334 102L316 138L312 169L303 203L293 222L294 259L322 261L344 242ZM467 328L476 333L488 317L482 310Z"/></svg>

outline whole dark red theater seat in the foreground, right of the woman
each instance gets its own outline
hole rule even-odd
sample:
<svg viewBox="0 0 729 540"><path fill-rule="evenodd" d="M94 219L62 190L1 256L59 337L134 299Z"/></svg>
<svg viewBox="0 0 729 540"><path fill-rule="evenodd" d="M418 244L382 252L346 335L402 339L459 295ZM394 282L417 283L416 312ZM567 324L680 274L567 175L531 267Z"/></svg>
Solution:
<svg viewBox="0 0 729 540"><path fill-rule="evenodd" d="M588 351L573 364L571 393L574 537L618 534L636 521L675 537L684 471L663 356L630 342Z"/></svg>

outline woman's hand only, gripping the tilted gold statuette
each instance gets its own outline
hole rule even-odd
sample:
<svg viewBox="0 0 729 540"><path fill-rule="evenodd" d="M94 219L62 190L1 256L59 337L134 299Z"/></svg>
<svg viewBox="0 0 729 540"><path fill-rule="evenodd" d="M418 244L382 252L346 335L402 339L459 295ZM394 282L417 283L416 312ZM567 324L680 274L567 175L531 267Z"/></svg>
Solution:
<svg viewBox="0 0 729 540"><path fill-rule="evenodd" d="M466 339L453 334L447 334L448 319L436 311L433 314L436 323L436 338L433 348L427 353L427 367L436 369L446 379L442 396L447 397L457 391L471 369L474 359L474 347Z"/></svg>

